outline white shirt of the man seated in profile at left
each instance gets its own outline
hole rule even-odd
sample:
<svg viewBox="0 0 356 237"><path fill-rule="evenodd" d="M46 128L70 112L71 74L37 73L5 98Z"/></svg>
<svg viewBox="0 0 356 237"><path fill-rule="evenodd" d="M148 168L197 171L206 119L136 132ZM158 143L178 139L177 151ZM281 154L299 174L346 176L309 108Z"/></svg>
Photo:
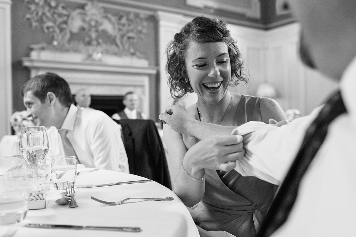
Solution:
<svg viewBox="0 0 356 237"><path fill-rule="evenodd" d="M129 163L121 139L119 125L104 112L77 108L72 104L61 129L67 129L80 163L85 167L96 167L129 173ZM64 155L63 143L58 130L47 129L49 151L46 163L54 156Z"/></svg>

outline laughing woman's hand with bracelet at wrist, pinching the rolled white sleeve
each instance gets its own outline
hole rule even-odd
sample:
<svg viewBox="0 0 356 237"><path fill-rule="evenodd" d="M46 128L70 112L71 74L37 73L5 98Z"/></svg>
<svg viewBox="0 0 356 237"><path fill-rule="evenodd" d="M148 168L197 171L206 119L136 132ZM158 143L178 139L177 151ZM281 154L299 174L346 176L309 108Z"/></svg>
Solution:
<svg viewBox="0 0 356 237"><path fill-rule="evenodd" d="M209 136L185 153L183 167L192 177L201 176L204 168L223 171L234 169L236 160L245 155L242 140L240 135Z"/></svg>

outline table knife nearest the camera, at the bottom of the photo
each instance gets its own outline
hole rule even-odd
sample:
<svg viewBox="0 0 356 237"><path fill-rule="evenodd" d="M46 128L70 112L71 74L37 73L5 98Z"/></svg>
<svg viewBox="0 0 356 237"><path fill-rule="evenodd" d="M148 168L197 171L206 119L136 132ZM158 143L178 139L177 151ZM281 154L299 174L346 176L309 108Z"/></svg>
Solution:
<svg viewBox="0 0 356 237"><path fill-rule="evenodd" d="M25 225L25 227L32 228L66 228L73 230L111 230L111 231L129 231L129 232L140 232L140 227L115 227L115 226L74 226L74 225L52 225L43 223L31 223Z"/></svg>

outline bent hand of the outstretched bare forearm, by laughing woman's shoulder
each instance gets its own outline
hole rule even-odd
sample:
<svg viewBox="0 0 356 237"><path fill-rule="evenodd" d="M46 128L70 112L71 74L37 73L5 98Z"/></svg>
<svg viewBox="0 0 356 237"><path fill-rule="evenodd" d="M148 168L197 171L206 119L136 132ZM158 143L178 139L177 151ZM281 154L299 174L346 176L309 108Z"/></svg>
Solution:
<svg viewBox="0 0 356 237"><path fill-rule="evenodd" d="M163 124L168 124L171 129L177 133L185 134L188 131L188 125L197 122L193 116L180 105L168 106L166 112L158 116Z"/></svg>

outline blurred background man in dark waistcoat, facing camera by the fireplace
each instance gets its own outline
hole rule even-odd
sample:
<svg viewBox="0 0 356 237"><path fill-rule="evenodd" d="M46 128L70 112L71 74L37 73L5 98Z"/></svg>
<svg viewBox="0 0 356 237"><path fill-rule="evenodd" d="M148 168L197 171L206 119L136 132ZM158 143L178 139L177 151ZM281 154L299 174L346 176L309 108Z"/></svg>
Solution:
<svg viewBox="0 0 356 237"><path fill-rule="evenodd" d="M122 103L125 109L111 115L113 119L147 119L144 113L137 111L138 107L138 96L135 92L129 91L125 94Z"/></svg>

